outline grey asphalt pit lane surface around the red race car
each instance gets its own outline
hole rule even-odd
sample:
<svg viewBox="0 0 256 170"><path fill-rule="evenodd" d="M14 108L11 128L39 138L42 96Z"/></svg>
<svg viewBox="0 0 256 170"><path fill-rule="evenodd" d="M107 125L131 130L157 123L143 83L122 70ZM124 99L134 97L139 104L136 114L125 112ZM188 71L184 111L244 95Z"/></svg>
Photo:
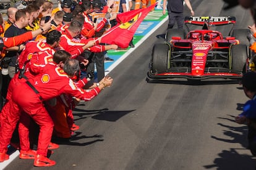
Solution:
<svg viewBox="0 0 256 170"><path fill-rule="evenodd" d="M252 24L249 11L223 11L220 0L192 6L198 16L234 15L236 28ZM163 42L166 25L109 73L112 87L76 108L80 129L54 151L56 166L35 168L16 158L6 169L254 169L247 127L233 121L248 100L236 81L147 83L151 48Z"/></svg>

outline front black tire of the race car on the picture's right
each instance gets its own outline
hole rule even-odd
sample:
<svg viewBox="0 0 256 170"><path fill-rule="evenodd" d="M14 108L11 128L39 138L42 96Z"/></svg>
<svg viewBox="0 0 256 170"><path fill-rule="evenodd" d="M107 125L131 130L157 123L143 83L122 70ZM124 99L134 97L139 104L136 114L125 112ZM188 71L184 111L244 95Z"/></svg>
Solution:
<svg viewBox="0 0 256 170"><path fill-rule="evenodd" d="M244 73L246 61L249 58L248 46L245 44L231 46L229 56L229 63L231 63L229 67L231 67L231 70Z"/></svg>

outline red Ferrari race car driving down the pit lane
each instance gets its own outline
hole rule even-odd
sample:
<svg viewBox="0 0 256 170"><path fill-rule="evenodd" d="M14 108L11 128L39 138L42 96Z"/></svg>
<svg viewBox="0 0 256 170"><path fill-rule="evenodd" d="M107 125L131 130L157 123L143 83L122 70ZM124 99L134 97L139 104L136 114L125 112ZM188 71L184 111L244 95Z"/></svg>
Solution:
<svg viewBox="0 0 256 170"><path fill-rule="evenodd" d="M186 17L185 25L202 26L190 31L169 29L164 44L153 46L148 78L240 79L249 71L249 29L233 29L235 17ZM229 36L210 30L232 26ZM185 37L185 38L184 38Z"/></svg>

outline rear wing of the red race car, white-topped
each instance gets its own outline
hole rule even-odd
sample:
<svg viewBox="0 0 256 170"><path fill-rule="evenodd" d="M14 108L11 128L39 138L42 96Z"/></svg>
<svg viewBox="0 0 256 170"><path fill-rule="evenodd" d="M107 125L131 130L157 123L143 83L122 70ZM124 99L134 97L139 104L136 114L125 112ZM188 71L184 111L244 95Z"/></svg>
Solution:
<svg viewBox="0 0 256 170"><path fill-rule="evenodd" d="M202 30L209 30L212 26L220 26L220 25L229 25L232 24L231 30L233 30L234 24L236 23L236 17L228 16L228 17L192 17L186 16L184 18L184 23L189 30L188 24L191 25L202 25Z"/></svg>

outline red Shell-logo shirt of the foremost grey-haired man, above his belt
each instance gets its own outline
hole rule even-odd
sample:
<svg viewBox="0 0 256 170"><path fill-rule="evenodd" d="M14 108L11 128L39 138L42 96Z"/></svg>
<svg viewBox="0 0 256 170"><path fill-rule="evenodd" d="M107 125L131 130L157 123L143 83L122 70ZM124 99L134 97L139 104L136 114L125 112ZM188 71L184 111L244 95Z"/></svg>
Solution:
<svg viewBox="0 0 256 170"><path fill-rule="evenodd" d="M88 101L100 92L98 87L90 91L80 89L74 84L74 81L67 76L64 70L57 67L55 63L48 63L45 66L38 66L38 64L33 63L30 69L34 73L39 73L28 81L40 92L40 96L43 100L49 100L61 94L70 94L79 99Z"/></svg>

